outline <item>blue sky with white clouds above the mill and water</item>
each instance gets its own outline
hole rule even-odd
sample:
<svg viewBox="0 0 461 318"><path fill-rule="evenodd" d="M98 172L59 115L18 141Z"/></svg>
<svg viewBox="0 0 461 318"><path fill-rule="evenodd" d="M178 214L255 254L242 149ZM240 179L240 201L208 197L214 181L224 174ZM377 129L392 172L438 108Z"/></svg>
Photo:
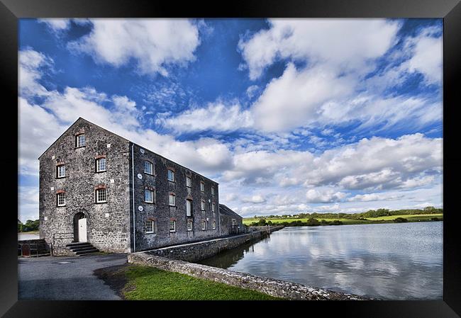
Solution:
<svg viewBox="0 0 461 318"><path fill-rule="evenodd" d="M21 19L21 220L79 117L243 216L442 206L441 19Z"/></svg>

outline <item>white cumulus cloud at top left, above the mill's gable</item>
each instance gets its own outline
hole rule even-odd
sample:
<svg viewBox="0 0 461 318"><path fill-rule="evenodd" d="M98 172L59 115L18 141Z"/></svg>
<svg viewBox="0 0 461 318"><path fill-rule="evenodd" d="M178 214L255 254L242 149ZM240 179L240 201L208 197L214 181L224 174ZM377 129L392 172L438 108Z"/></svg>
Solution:
<svg viewBox="0 0 461 318"><path fill-rule="evenodd" d="M168 64L194 61L200 44L197 25L186 19L91 19L89 35L69 43L96 62L121 67L135 59L142 74L167 75Z"/></svg>

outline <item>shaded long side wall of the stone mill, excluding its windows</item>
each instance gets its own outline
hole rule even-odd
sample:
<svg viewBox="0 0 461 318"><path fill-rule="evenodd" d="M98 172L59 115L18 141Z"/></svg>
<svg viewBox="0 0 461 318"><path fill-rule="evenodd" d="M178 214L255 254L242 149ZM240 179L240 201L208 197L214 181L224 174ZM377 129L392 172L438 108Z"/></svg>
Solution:
<svg viewBox="0 0 461 318"><path fill-rule="evenodd" d="M144 153L140 149L143 149ZM133 157L136 251L218 237L218 183L137 144L133 146ZM154 164L153 175L144 172L146 160ZM174 182L168 181L168 169L174 171ZM138 174L140 178L138 178ZM186 176L191 177L191 188L186 186ZM204 182L204 192L200 191L201 181ZM212 186L215 191L214 195L211 195ZM146 187L155 189L155 203L145 203L144 191ZM175 195L174 207L169 205L170 193ZM191 217L186 215L187 199L192 200ZM201 211L201 200L206 202L205 211ZM215 203L215 213L211 212L211 203ZM139 210L140 206L142 210ZM208 226L206 230L203 230L201 229L201 221L207 218ZM145 233L146 220L155 221L156 233ZM176 232L170 232L170 220L176 221ZM191 231L187 230L187 220L193 222ZM213 220L216 221L216 229L212 228Z"/></svg>

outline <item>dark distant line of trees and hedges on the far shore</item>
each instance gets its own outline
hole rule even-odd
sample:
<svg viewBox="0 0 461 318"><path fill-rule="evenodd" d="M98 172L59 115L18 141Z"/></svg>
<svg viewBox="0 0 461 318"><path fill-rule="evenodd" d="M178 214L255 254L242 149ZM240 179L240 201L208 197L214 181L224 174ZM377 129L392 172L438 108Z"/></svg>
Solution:
<svg viewBox="0 0 461 318"><path fill-rule="evenodd" d="M295 215L267 215L258 217L255 215L255 219L350 219L350 220L362 220L367 217L385 217L391 215L418 215L418 214L443 214L443 208L434 208L426 207L423 209L411 209L411 210L387 210L387 209L378 209L378 210L368 210L367 212L361 213L299 213Z"/></svg>

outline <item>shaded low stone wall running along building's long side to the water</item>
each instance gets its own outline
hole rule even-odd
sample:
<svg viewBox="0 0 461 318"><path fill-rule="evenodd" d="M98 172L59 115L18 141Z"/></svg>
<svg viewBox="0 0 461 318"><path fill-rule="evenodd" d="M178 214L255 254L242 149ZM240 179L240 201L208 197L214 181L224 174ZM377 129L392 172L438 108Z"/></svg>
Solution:
<svg viewBox="0 0 461 318"><path fill-rule="evenodd" d="M274 232L277 231L277 229L282 228L282 226L270 227L270 232ZM169 246L161 249L153 249L150 251L141 251L138 253L152 256L162 256L168 259L180 259L182 261L196 262L201 261L202 259L208 259L209 257L214 256L223 250L233 249L234 247L244 244L245 242L261 239L265 234L267 234L266 231L256 231L248 234L235 235L233 237L210 239L203 242Z"/></svg>

